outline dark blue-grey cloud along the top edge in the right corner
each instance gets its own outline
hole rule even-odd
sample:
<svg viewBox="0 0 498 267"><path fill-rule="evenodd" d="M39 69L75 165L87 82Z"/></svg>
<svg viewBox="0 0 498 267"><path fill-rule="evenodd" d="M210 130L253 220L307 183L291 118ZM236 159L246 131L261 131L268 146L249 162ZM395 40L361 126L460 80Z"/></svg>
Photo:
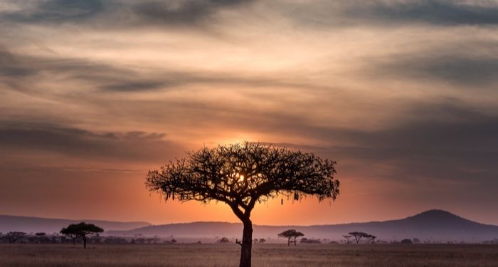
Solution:
<svg viewBox="0 0 498 267"><path fill-rule="evenodd" d="M484 1L320 1L294 4L285 14L309 26L429 23L440 26L495 25L498 6Z"/></svg>

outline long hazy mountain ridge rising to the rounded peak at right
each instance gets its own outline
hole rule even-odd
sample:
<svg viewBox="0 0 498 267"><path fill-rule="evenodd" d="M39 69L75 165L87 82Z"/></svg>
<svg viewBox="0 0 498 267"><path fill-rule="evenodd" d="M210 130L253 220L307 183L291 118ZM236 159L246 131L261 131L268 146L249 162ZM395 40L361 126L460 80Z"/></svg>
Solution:
<svg viewBox="0 0 498 267"><path fill-rule="evenodd" d="M286 229L302 231L307 238L339 240L351 231L364 231L385 241L413 239L420 241L480 242L498 239L498 226L480 224L442 210L425 211L406 219L371 221L354 224L332 224L314 226L253 226L255 238L277 239L277 234ZM176 238L211 238L227 236L240 238L241 224L226 222L193 222L186 224L164 224L147 226L129 231L108 231L120 236L175 236Z"/></svg>

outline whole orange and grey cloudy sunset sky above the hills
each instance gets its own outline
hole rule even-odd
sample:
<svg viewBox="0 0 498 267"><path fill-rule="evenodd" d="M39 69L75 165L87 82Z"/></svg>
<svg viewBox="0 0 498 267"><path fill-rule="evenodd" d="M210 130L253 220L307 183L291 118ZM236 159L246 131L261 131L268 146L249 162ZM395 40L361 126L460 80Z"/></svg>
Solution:
<svg viewBox="0 0 498 267"><path fill-rule="evenodd" d="M0 0L0 36L0 214L238 221L144 182L247 140L341 182L254 224L498 224L497 1Z"/></svg>

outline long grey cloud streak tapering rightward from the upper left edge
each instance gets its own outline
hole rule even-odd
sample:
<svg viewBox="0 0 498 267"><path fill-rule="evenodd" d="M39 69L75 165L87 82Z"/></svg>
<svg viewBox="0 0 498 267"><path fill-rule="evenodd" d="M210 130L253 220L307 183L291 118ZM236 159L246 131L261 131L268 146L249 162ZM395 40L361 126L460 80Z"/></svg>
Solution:
<svg viewBox="0 0 498 267"><path fill-rule="evenodd" d="M210 70L156 69L143 71L137 68L115 66L110 63L60 56L23 56L0 50L0 83L14 90L29 90L34 80L50 81L55 78L74 82L73 90L88 92L139 93L171 90L188 85L243 85L260 88L313 88L327 86L303 82L293 73L237 73ZM14 86L15 84L16 86ZM21 88L21 89L20 89Z"/></svg>

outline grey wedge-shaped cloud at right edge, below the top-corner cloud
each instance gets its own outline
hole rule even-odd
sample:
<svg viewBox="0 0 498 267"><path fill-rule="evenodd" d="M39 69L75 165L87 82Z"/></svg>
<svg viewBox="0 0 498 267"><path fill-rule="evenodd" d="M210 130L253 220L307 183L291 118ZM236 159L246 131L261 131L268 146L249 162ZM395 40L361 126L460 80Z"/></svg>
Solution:
<svg viewBox="0 0 498 267"><path fill-rule="evenodd" d="M418 53L395 53L365 60L359 75L372 78L411 78L452 83L455 88L480 90L498 82L498 43L462 41L426 48ZM368 74L364 74L368 73Z"/></svg>

